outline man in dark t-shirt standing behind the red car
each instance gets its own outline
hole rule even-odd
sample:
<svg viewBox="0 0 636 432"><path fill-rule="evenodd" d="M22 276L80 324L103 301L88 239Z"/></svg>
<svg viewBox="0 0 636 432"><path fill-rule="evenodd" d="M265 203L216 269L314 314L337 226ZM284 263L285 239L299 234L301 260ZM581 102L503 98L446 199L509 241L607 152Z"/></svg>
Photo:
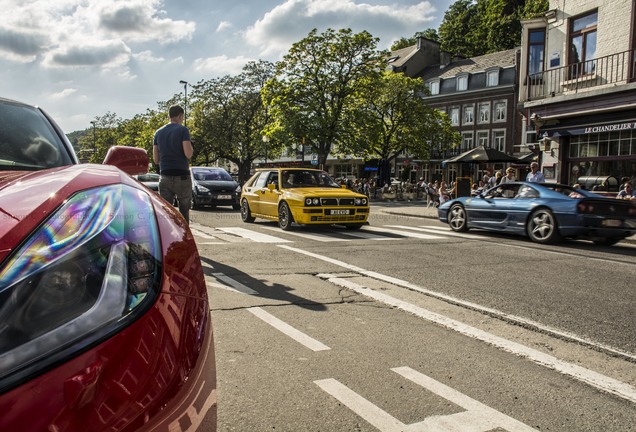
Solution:
<svg viewBox="0 0 636 432"><path fill-rule="evenodd" d="M184 110L173 105L169 110L170 123L155 132L152 146L152 158L159 166L159 194L170 204L175 198L179 211L190 222L190 202L192 201L192 178L190 177L190 158L193 148L190 131L183 126Z"/></svg>

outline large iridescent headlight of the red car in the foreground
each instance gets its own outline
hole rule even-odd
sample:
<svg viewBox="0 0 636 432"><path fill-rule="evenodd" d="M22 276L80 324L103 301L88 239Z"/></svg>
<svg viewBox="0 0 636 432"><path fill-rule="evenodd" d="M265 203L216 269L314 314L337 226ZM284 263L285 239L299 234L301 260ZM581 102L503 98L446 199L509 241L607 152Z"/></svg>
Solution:
<svg viewBox="0 0 636 432"><path fill-rule="evenodd" d="M73 195L0 268L0 378L118 331L160 279L146 192L119 184Z"/></svg>

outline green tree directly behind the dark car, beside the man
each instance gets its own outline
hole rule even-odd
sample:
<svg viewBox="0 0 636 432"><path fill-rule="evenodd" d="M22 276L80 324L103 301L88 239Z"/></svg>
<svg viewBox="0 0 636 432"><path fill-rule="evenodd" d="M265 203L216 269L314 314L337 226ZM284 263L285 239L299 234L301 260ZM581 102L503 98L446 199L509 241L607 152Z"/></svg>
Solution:
<svg viewBox="0 0 636 432"><path fill-rule="evenodd" d="M232 161L239 167L242 182L249 177L255 159L277 155L276 143L263 141L269 113L261 90L273 74L272 63L250 62L237 76L193 86L190 112L195 164Z"/></svg>

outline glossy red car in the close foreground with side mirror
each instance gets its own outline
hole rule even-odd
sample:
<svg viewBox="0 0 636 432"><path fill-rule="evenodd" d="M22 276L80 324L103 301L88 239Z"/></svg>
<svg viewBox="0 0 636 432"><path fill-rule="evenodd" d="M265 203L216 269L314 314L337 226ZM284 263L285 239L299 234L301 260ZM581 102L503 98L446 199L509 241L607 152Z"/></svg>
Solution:
<svg viewBox="0 0 636 432"><path fill-rule="evenodd" d="M0 430L216 429L199 255L130 177L148 162L79 164L44 111L0 99Z"/></svg>

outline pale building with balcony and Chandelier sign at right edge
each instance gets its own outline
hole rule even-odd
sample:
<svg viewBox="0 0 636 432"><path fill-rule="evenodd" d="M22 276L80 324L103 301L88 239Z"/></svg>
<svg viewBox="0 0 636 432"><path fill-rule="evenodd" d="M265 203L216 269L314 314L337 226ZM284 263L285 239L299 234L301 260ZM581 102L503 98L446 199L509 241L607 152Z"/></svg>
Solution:
<svg viewBox="0 0 636 432"><path fill-rule="evenodd" d="M636 180L635 11L636 0L550 0L523 22L519 108L548 181Z"/></svg>

